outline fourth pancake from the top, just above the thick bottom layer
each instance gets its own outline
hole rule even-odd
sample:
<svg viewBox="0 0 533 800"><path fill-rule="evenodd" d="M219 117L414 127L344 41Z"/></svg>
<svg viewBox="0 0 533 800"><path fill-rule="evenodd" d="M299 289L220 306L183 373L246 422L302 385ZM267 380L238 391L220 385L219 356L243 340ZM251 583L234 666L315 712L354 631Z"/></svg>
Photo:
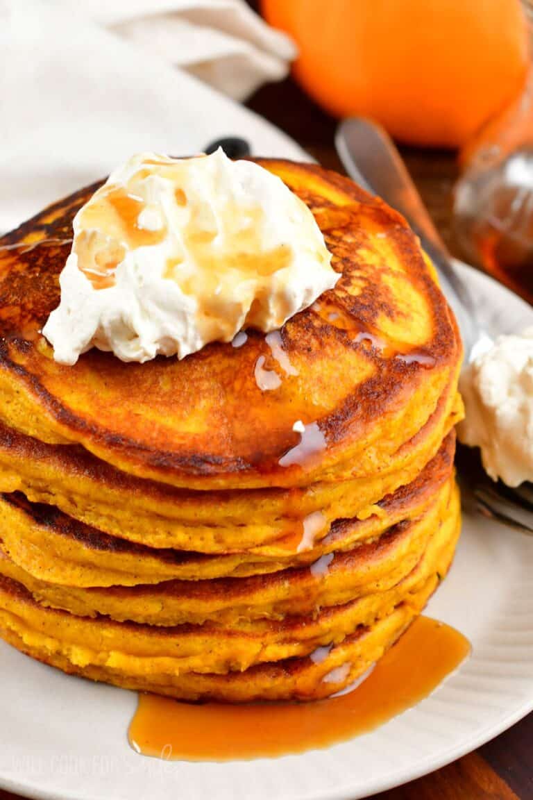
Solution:
<svg viewBox="0 0 533 800"><path fill-rule="evenodd" d="M378 538L361 542L352 550L323 556L311 566L272 574L77 588L38 580L6 555L0 558L0 574L22 583L48 606L78 616L100 614L119 621L155 626L206 620L233 624L262 618L280 619L286 614L312 614L323 606L335 606L364 594L387 590L405 578L420 561L446 516L453 486L451 478L420 518L400 522ZM349 528L350 522L344 524Z"/></svg>

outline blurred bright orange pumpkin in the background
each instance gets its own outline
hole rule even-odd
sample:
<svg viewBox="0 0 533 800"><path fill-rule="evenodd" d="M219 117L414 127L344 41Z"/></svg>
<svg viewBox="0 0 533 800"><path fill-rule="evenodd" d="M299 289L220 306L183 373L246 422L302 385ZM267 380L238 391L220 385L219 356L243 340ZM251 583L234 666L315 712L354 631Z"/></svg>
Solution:
<svg viewBox="0 0 533 800"><path fill-rule="evenodd" d="M462 146L523 87L519 0L262 0L300 48L297 80L336 116L413 144Z"/></svg>

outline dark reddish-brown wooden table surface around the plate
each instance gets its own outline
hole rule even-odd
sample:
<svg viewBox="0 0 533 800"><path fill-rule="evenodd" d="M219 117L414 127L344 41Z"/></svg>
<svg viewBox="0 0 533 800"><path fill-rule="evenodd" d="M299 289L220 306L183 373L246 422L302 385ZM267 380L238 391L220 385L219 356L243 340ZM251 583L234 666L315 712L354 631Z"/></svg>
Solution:
<svg viewBox="0 0 533 800"><path fill-rule="evenodd" d="M333 147L336 123L291 80L264 87L249 107L285 130L322 165L341 170ZM402 152L420 194L453 250L450 218L451 187L457 174L454 155L435 150ZM18 798L0 790L0 800ZM533 714L475 753L425 778L376 794L373 800L533 800Z"/></svg>

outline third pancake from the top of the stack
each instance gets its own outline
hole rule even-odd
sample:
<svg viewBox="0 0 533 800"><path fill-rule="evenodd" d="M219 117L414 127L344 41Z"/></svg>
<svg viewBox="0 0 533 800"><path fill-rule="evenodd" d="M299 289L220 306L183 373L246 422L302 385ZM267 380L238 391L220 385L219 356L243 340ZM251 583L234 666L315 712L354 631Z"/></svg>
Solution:
<svg viewBox="0 0 533 800"><path fill-rule="evenodd" d="M245 577L312 564L356 542L376 538L399 522L417 518L451 475L455 432L415 481L384 497L364 519L332 523L328 534L308 550L294 552L287 542L237 553L209 556L156 550L103 534L54 506L30 503L23 494L0 496L2 546L11 560L39 580L66 586L135 586L171 578L185 580ZM267 552L265 552L265 550Z"/></svg>

